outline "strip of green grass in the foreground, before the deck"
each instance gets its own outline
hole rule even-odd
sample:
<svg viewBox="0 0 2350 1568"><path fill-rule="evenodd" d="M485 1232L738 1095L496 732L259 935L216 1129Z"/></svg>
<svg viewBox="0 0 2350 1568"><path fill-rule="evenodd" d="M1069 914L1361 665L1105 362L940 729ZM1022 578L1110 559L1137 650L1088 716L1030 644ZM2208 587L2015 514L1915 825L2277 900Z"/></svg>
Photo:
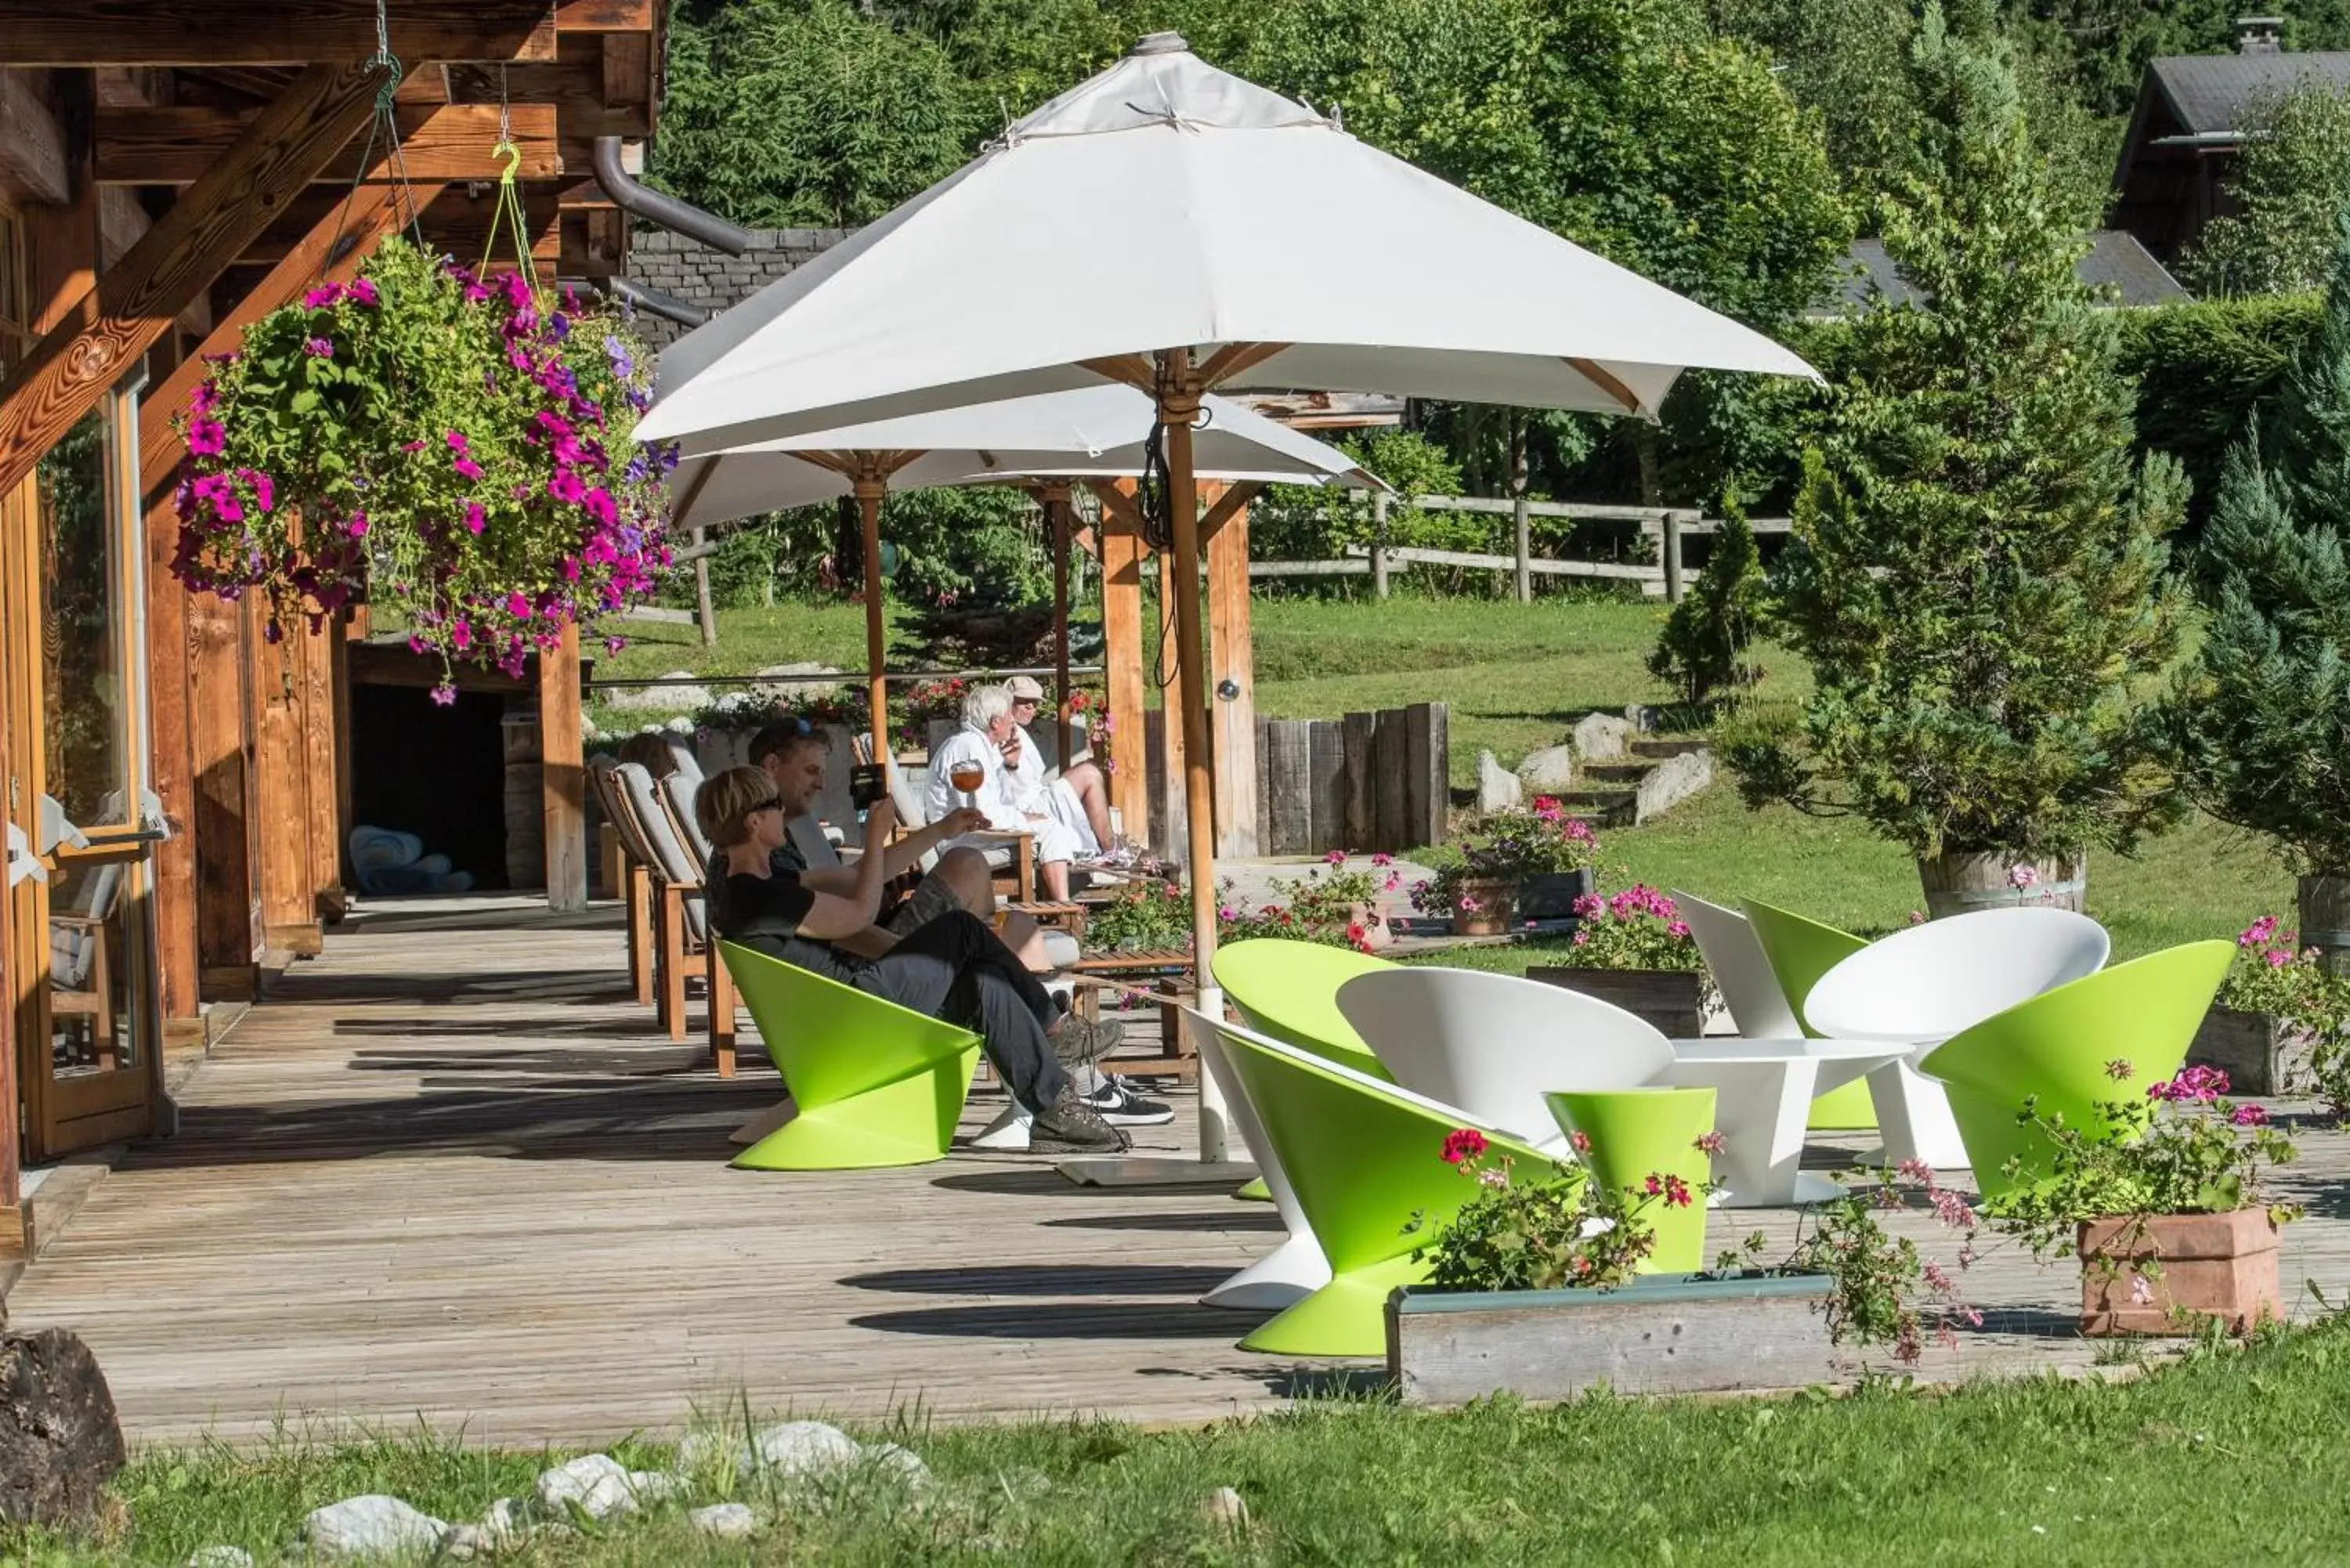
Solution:
<svg viewBox="0 0 2350 1568"><path fill-rule="evenodd" d="M754 1542L672 1509L531 1547L526 1563L2035 1563L2113 1568L2350 1559L2341 1465L2350 1331L2319 1324L2134 1382L2056 1378L1950 1394L1626 1401L1455 1415L1307 1401L1203 1429L1107 1422L893 1432L933 1469L761 1507ZM148 1453L118 1483L132 1523L99 1542L19 1537L9 1561L183 1563L214 1542L261 1561L324 1502L388 1490L477 1519L559 1455L449 1441ZM634 1446L620 1458L653 1465ZM710 1502L721 1476L705 1479ZM1241 1530L1203 1502L1231 1486Z"/></svg>

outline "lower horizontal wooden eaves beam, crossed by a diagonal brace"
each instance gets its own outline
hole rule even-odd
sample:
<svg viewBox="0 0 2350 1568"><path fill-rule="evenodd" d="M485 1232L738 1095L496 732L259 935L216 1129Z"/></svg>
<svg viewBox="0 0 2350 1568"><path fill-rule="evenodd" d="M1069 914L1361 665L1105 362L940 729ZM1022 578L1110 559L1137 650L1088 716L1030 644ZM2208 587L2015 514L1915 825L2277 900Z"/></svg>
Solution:
<svg viewBox="0 0 2350 1568"><path fill-rule="evenodd" d="M183 186L202 179L258 115L230 108L101 108L99 110L99 183L106 186ZM331 181L449 181L498 179L505 160L491 155L498 146L498 110L494 106L444 103L397 108L400 160L385 136L362 129L327 160ZM508 110L515 148L522 153L517 179L557 179L564 172L555 143L555 108L515 103ZM367 172L360 155L367 153Z"/></svg>

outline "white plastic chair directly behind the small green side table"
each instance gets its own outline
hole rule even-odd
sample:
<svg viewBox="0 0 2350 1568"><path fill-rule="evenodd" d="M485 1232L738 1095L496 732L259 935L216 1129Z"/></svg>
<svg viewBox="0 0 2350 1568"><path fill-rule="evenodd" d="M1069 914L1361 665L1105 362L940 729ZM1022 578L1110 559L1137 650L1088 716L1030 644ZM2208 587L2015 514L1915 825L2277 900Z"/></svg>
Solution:
<svg viewBox="0 0 2350 1568"><path fill-rule="evenodd" d="M1624 1009L1478 969L1356 976L1337 1011L1398 1084L1544 1152L1565 1147L1544 1093L1640 1088L1673 1067L1664 1034Z"/></svg>

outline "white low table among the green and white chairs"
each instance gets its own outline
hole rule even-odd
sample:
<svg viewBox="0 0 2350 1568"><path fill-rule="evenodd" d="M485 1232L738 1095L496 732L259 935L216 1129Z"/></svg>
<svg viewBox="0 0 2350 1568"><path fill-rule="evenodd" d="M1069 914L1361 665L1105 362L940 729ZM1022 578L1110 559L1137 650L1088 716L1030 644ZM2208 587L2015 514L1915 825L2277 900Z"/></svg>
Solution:
<svg viewBox="0 0 2350 1568"><path fill-rule="evenodd" d="M1842 1197L1826 1175L1800 1171L1812 1100L1906 1056L1866 1039L1676 1039L1664 1081L1713 1091L1713 1204L1791 1208Z"/></svg>

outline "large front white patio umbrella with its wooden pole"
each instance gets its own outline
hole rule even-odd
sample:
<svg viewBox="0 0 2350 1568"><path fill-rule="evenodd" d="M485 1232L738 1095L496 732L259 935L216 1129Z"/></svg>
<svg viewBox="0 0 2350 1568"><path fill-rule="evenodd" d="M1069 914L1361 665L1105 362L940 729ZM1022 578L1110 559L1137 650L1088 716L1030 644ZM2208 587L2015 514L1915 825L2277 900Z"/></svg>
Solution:
<svg viewBox="0 0 2350 1568"><path fill-rule="evenodd" d="M1079 214L1119 244L1072 244ZM1654 418L1687 367L1814 374L1762 334L1154 33L956 174L679 339L637 430L712 451L1090 381L1152 393L1166 423L1198 1001L1215 1016L1201 395L1375 390ZM1213 1110L1203 1091L1203 1159L1222 1154Z"/></svg>

